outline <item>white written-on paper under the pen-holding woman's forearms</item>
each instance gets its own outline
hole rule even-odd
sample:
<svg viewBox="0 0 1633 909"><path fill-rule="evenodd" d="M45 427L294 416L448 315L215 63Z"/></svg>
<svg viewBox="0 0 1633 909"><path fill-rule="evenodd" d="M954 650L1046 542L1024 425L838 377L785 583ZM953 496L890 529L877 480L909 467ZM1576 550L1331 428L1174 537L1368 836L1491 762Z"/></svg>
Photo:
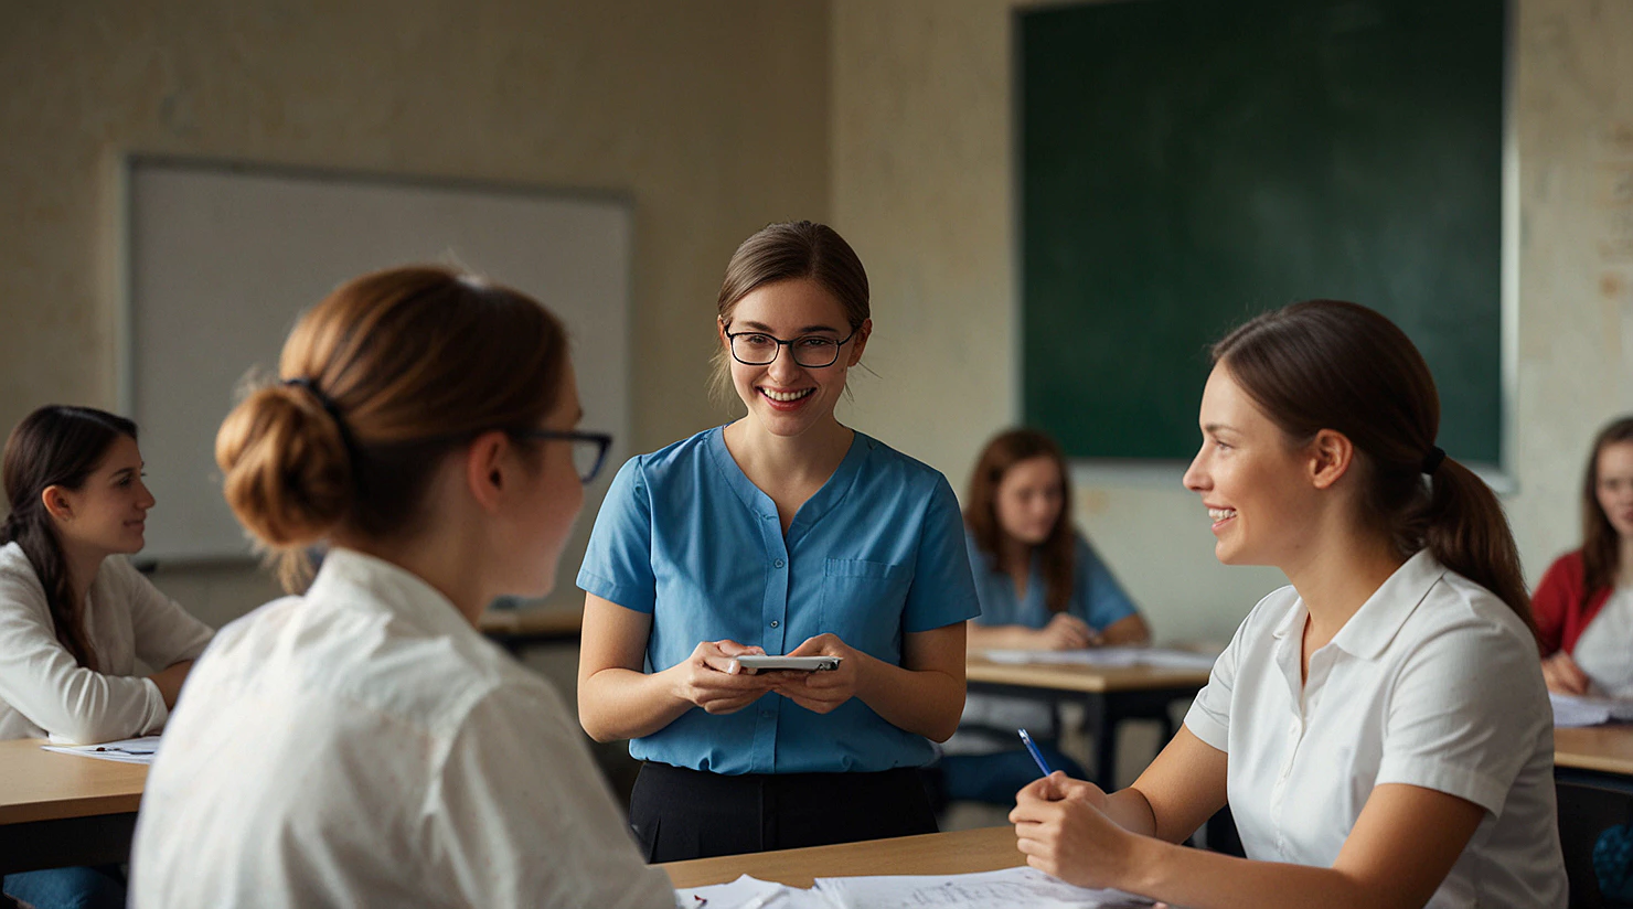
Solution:
<svg viewBox="0 0 1633 909"><path fill-rule="evenodd" d="M816 891L838 909L1032 909L1143 907L1150 899L1117 889L1086 889L1037 868L1004 868L975 875L892 875L875 878L816 878ZM710 909L712 904L710 904Z"/></svg>

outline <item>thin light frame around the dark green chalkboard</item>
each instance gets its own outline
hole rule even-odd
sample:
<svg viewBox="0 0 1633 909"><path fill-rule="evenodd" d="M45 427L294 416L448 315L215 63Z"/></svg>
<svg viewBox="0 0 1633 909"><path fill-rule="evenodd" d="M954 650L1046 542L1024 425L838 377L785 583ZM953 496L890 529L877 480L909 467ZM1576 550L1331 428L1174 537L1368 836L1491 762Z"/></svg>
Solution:
<svg viewBox="0 0 1633 909"><path fill-rule="evenodd" d="M1168 0L1040 0L1016 3L1009 10L1009 222L1011 222L1011 423L1022 423L1027 415L1026 344L1027 344L1027 294L1026 294L1026 137L1024 137L1024 67L1026 46L1022 20L1039 11L1060 8L1110 5L1110 3L1164 3ZM1519 401L1519 250L1520 250L1520 178L1519 145L1515 134L1515 34L1517 3L1502 0L1502 85L1501 85L1501 250L1499 250L1499 429L1497 459L1470 459L1465 463L1475 470L1499 494L1514 494L1520 483L1514 470L1517 450L1517 401ZM1197 387L1200 400L1202 388ZM1043 426L1047 429L1047 426ZM1199 439L1200 442L1200 439ZM1453 452L1455 457L1455 452ZM1176 488L1189 459L1141 457L1079 457L1068 452L1073 478L1079 485L1099 486L1163 486Z"/></svg>

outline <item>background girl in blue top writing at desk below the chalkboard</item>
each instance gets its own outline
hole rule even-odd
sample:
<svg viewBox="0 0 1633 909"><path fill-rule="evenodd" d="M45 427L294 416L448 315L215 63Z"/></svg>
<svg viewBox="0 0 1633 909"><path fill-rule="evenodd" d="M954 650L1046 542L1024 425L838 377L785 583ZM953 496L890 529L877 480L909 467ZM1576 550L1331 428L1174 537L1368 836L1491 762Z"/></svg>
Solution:
<svg viewBox="0 0 1633 909"><path fill-rule="evenodd" d="M993 437L970 475L963 524L981 615L970 653L1079 650L1150 640L1145 619L1094 548L1071 527L1071 480L1053 439L1035 429ZM1037 777L1016 729L1027 729L1050 767L1083 777L1053 744L1055 710L1021 697L972 694L941 760L950 800L1011 805Z"/></svg>

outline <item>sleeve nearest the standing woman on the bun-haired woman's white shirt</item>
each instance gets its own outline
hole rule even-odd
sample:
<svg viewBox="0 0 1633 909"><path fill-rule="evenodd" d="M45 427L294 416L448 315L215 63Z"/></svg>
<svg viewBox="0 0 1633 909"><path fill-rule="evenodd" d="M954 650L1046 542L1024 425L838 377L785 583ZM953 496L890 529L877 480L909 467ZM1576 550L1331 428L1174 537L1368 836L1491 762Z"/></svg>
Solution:
<svg viewBox="0 0 1633 909"><path fill-rule="evenodd" d="M426 862L462 906L674 906L550 692L505 685L483 697L425 811Z"/></svg>

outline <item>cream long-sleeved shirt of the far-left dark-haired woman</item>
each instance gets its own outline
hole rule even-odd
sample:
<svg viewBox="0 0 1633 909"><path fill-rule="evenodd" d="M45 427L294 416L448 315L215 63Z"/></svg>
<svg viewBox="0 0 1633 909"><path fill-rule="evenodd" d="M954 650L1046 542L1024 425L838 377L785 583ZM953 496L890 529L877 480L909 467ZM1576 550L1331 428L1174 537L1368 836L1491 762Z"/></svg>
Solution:
<svg viewBox="0 0 1633 909"><path fill-rule="evenodd" d="M103 560L83 615L96 669L57 641L46 588L23 547L0 547L0 739L96 743L154 733L170 710L136 661L163 669L193 659L214 633L122 556Z"/></svg>

